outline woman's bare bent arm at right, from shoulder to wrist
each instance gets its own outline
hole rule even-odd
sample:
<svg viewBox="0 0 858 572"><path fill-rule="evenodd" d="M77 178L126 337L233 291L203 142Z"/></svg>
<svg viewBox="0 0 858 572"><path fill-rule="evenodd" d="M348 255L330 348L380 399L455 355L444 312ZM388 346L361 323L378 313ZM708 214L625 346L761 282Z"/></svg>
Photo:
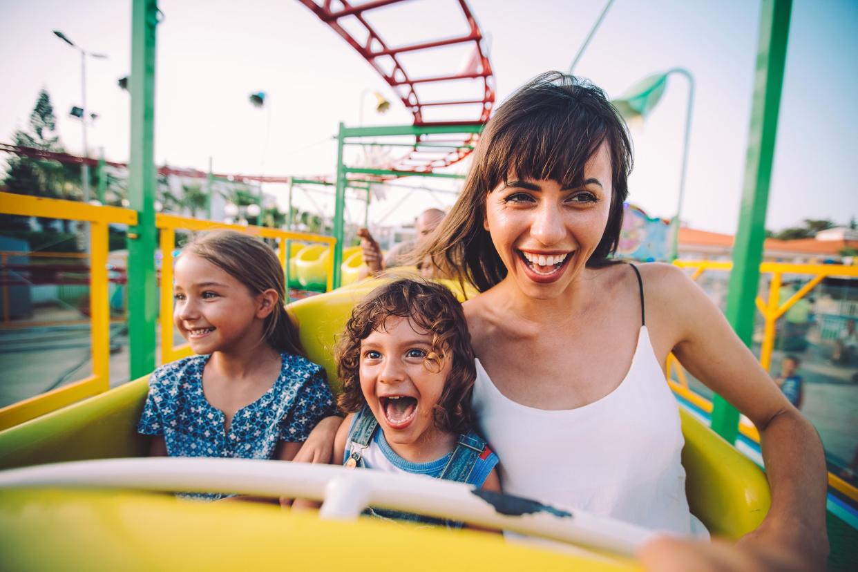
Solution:
<svg viewBox="0 0 858 572"><path fill-rule="evenodd" d="M722 312L679 268L657 265L647 272L644 286L648 308L650 299L655 303L654 325L673 341L680 363L759 431L771 509L740 546L792 555L807 569L825 568L827 471L813 425L789 404Z"/></svg>

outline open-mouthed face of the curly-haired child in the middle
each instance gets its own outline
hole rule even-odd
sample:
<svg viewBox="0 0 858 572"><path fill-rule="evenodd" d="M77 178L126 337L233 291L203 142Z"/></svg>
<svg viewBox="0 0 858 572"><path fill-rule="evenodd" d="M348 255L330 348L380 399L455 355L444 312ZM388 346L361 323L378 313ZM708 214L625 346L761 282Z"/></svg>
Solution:
<svg viewBox="0 0 858 572"><path fill-rule="evenodd" d="M452 359L432 372L424 364L431 350L432 334L396 316L360 342L360 389L391 444L419 445L438 431L433 408Z"/></svg>

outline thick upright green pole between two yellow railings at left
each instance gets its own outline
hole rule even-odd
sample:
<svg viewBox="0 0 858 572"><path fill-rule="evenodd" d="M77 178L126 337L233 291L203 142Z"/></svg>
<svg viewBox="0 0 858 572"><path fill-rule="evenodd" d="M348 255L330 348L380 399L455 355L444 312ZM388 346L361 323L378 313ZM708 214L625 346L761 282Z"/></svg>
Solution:
<svg viewBox="0 0 858 572"><path fill-rule="evenodd" d="M155 322L158 291L155 281L154 95L155 0L133 0L131 8L131 154L129 198L137 226L128 232L128 329L131 379L155 368ZM162 285L169 288L172 285Z"/></svg>

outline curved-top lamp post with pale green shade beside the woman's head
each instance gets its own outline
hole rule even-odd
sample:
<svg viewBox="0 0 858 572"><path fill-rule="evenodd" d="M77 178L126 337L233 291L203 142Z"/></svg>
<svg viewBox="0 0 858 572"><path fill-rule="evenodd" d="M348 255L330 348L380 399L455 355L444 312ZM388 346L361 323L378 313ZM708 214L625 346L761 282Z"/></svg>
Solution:
<svg viewBox="0 0 858 572"><path fill-rule="evenodd" d="M673 227L673 242L670 249L670 259L676 260L680 249L680 216L682 202L686 195L686 172L688 170L688 144L692 133L692 114L694 107L694 76L685 68L673 68L660 74L648 75L630 87L619 98L613 100L613 105L626 118L646 117L662 99L662 94L668 85L668 75L679 74L688 80L688 104L686 105L686 129L682 144L682 166L680 170L680 196L676 202L676 214L670 221Z"/></svg>

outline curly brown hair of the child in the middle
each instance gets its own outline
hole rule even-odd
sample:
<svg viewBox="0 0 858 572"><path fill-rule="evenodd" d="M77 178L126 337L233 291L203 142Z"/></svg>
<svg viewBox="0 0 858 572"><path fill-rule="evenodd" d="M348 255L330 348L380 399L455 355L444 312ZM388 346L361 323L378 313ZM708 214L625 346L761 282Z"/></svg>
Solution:
<svg viewBox="0 0 858 572"><path fill-rule="evenodd" d="M444 360L453 360L444 391L435 404L435 426L449 433L470 430L474 426L471 393L476 369L462 304L445 286L417 278L378 286L352 310L335 349L336 372L342 381L338 399L341 409L353 413L366 405L360 389L360 342L384 328L391 316L408 318L432 334L432 351L424 361L427 370L441 370Z"/></svg>

